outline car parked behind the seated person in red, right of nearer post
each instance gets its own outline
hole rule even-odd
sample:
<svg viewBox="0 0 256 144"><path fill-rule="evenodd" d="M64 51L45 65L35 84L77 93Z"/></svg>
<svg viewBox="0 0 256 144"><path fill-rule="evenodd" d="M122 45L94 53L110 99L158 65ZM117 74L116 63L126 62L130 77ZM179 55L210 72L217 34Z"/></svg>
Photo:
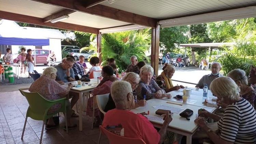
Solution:
<svg viewBox="0 0 256 144"><path fill-rule="evenodd" d="M190 59L189 59L188 55L186 56L186 58L184 58L184 57L185 57L184 54L170 53L169 56L170 56L170 64L172 64L172 65L176 65L176 59L177 59L179 56L181 56L181 59L182 59L182 61L184 62L184 64L185 64L186 66L189 66L189 65L190 65ZM163 54L162 63L163 63L163 64L165 63L165 54Z"/></svg>

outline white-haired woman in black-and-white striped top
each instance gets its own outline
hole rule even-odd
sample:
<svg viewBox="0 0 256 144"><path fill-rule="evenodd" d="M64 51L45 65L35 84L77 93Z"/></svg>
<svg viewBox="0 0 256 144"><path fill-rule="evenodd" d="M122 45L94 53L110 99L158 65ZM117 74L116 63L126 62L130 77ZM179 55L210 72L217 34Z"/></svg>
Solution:
<svg viewBox="0 0 256 144"><path fill-rule="evenodd" d="M218 133L207 126L204 118L195 120L214 144L255 144L256 112L253 106L240 97L240 89L229 77L218 77L211 83L210 89L218 99L228 106L224 115L218 116L205 109L198 112L200 116L210 117L217 122Z"/></svg>

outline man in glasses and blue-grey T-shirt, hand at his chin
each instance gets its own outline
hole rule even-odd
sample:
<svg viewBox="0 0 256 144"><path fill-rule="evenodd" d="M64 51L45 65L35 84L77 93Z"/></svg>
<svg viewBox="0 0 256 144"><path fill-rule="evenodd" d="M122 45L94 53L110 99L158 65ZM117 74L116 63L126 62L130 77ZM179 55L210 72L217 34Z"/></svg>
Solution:
<svg viewBox="0 0 256 144"><path fill-rule="evenodd" d="M64 83L75 81L75 75L72 69L74 63L74 59L68 57L61 65L55 66L57 69L56 81L59 84L64 85Z"/></svg>

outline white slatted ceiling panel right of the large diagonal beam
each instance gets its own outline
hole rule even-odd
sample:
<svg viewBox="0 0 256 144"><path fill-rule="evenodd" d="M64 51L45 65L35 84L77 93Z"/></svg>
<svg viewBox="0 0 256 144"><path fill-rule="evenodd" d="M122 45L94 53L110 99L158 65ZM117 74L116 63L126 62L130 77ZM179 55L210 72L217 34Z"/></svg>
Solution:
<svg viewBox="0 0 256 144"><path fill-rule="evenodd" d="M152 17L167 19L227 10L256 4L256 0L116 0L102 5L119 10Z"/></svg>

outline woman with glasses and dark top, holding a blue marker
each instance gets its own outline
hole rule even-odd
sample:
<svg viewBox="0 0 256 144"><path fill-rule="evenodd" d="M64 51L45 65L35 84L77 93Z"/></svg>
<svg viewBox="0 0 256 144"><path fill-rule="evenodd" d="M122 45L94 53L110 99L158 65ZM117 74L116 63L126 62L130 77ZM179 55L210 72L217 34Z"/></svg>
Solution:
<svg viewBox="0 0 256 144"><path fill-rule="evenodd" d="M137 86L138 86L138 84L140 82L140 76L137 73L128 72L123 77L122 80L125 80L125 81L129 82L131 84L132 91L134 91L137 88ZM146 100L140 100L140 101L137 100L137 96L136 96L135 92L133 92L133 96L134 96L134 101L135 101L135 105L134 105L133 109L137 108L137 107L143 107L143 106L146 105ZM114 109L114 108L116 108L115 103L114 103L114 101L112 99L111 94L109 94L109 101L106 104L106 107L105 107L104 111L107 112L107 111L109 111L111 109Z"/></svg>

